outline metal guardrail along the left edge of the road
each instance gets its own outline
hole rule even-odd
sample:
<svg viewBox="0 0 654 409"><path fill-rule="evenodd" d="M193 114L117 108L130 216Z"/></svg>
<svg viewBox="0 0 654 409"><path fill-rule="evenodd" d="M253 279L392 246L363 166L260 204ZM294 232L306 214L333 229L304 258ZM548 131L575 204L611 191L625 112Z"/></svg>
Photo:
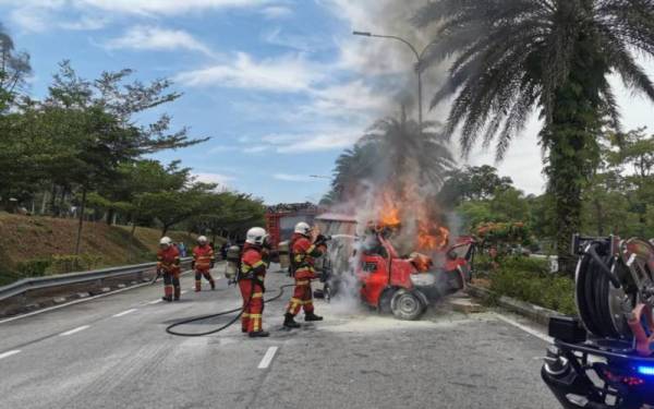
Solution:
<svg viewBox="0 0 654 409"><path fill-rule="evenodd" d="M192 257L182 258L182 264L190 263ZM142 275L157 266L157 263L143 263L121 267L95 269L90 272L68 273L55 276L24 278L8 286L0 287L0 302L32 290L56 289L70 285L84 284L129 275Z"/></svg>

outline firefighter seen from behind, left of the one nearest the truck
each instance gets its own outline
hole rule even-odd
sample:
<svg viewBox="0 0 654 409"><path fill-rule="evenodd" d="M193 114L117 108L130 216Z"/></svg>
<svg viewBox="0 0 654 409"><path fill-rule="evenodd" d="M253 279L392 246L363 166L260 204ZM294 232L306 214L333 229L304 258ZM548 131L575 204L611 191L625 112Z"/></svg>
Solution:
<svg viewBox="0 0 654 409"><path fill-rule="evenodd" d="M241 316L241 330L252 338L267 337L269 334L263 329L262 314L264 312L264 279L266 264L263 260L264 248L268 234L261 227L247 230L243 253L241 255L241 272L239 288L243 297L243 315Z"/></svg>

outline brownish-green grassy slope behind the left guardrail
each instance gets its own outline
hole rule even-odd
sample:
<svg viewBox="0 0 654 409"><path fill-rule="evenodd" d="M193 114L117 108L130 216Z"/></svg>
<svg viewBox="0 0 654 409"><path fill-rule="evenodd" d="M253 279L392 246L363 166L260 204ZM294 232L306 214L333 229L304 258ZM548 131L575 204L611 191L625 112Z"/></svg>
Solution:
<svg viewBox="0 0 654 409"><path fill-rule="evenodd" d="M80 256L75 249L77 220L0 213L0 285L24 277L68 273L155 260L160 231L84 224ZM171 231L174 241L192 237Z"/></svg>

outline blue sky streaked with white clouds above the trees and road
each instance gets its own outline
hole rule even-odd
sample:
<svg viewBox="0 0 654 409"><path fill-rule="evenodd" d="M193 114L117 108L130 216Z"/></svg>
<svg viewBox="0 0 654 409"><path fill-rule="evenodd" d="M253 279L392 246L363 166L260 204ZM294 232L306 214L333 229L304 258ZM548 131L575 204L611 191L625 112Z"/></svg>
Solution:
<svg viewBox="0 0 654 409"><path fill-rule="evenodd" d="M310 176L331 175L342 149L376 118L397 111L398 95L412 92L411 56L401 45L351 32L402 34L426 44L425 33L407 22L420 3L0 0L0 22L32 55L35 96L45 94L63 59L87 79L132 68L142 81L174 80L184 96L165 110L177 127L211 141L158 158L181 159L202 180L277 203L319 200L329 181ZM628 128L654 122L650 103L618 94ZM499 165L529 193L543 189L537 129L532 121ZM493 164L493 153L476 151L467 163Z"/></svg>

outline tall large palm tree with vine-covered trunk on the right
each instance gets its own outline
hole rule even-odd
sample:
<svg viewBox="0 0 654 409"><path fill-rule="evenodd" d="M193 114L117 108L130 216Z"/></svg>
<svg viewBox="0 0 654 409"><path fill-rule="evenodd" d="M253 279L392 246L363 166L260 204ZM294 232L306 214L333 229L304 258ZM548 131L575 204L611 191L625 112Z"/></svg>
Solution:
<svg viewBox="0 0 654 409"><path fill-rule="evenodd" d="M446 133L460 128L464 153L481 139L495 143L501 159L540 111L557 252L571 262L568 243L580 228L582 188L598 163L597 137L605 125L619 129L607 76L616 73L654 99L634 58L654 55L654 1L434 0L415 23L437 26L427 63L452 61L432 107L455 97Z"/></svg>

